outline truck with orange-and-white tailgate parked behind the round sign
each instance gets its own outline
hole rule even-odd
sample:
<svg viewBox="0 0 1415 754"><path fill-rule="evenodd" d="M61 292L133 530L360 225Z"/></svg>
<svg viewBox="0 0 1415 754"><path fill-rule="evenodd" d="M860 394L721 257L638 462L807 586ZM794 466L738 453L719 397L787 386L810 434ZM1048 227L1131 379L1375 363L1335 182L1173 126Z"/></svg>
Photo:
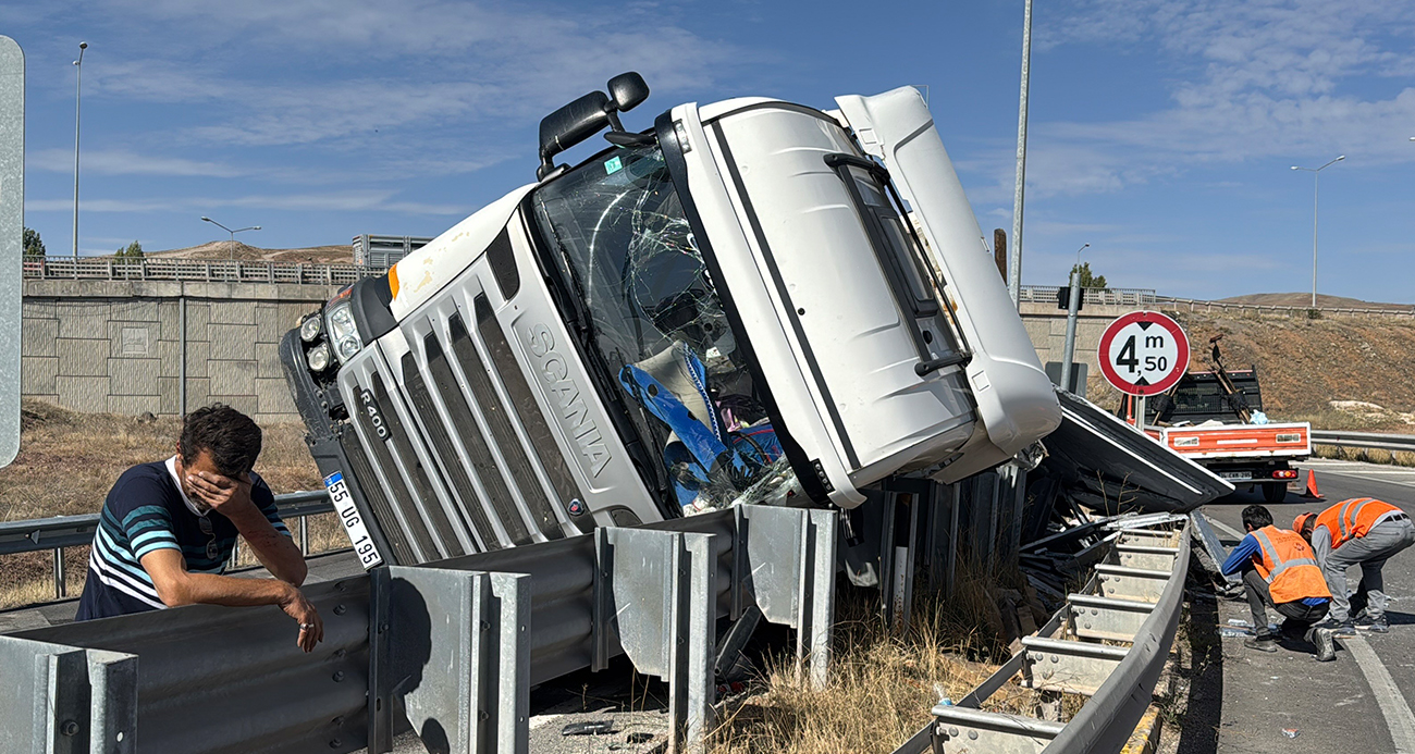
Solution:
<svg viewBox="0 0 1415 754"><path fill-rule="evenodd" d="M1235 487L1257 487L1266 502L1282 502L1288 482L1298 478L1293 464L1312 456L1312 424L1268 422L1258 368L1225 368L1220 340L1208 341L1210 371L1186 373L1150 402L1145 431Z"/></svg>

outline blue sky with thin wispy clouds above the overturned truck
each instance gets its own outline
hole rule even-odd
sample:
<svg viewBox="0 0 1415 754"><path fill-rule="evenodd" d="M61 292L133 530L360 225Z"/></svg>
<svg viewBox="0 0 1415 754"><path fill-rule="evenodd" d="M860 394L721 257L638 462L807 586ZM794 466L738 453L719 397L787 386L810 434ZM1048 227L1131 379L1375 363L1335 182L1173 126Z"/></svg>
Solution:
<svg viewBox="0 0 1415 754"><path fill-rule="evenodd" d="M535 174L536 126L625 69L682 102L928 86L985 231L1012 226L1022 0L6 3L28 62L25 224L68 253L436 235ZM1415 4L1043 0L1023 282L1415 303ZM216 232L212 232L216 231ZM990 233L989 233L990 238Z"/></svg>

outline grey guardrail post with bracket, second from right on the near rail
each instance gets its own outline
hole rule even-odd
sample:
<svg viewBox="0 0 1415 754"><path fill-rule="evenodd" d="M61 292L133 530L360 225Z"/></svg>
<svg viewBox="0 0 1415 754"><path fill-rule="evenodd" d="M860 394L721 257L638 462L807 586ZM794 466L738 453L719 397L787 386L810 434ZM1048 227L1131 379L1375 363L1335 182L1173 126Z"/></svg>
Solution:
<svg viewBox="0 0 1415 754"><path fill-rule="evenodd" d="M713 720L717 572L712 538L596 529L596 644L607 642L613 631L638 672L668 682L669 753L700 751Z"/></svg>

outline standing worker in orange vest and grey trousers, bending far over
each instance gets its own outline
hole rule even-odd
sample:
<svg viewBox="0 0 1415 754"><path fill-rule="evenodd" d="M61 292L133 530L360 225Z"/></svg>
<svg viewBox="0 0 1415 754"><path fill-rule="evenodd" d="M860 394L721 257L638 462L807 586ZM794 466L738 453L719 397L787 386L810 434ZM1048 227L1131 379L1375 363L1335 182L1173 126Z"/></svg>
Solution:
<svg viewBox="0 0 1415 754"><path fill-rule="evenodd" d="M1381 569L1392 555L1415 545L1409 514L1375 498L1351 498L1320 514L1302 514L1292 528L1312 543L1332 590L1332 610L1323 625L1347 635L1356 634L1357 627L1377 634L1390 631ZM1361 583L1348 600L1346 569L1357 564ZM1356 621L1353 608L1358 613Z"/></svg>

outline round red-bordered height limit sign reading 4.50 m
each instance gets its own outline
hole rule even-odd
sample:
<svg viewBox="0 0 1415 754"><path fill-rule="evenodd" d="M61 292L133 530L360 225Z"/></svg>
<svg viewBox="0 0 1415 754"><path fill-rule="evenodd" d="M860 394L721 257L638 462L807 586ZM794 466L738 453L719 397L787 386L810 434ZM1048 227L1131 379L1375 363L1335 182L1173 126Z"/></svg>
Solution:
<svg viewBox="0 0 1415 754"><path fill-rule="evenodd" d="M1156 395L1189 369L1189 338L1179 323L1157 311L1132 311L1105 327L1098 361L1116 390Z"/></svg>

